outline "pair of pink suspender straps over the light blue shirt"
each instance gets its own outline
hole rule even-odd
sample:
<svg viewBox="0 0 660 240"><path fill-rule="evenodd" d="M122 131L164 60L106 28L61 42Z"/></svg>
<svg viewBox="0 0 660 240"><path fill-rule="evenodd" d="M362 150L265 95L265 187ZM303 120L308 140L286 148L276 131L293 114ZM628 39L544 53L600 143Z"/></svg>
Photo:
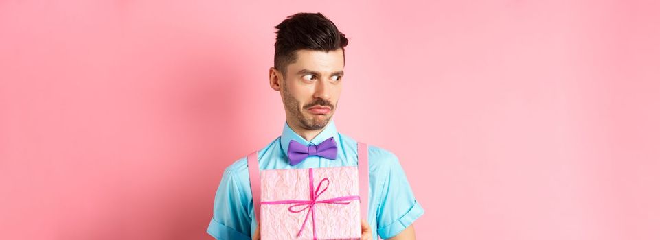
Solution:
<svg viewBox="0 0 660 240"><path fill-rule="evenodd" d="M261 221L261 176L257 152L247 156L247 169L250 175L254 215ZM360 186L360 216L368 221L369 209L369 148L365 143L358 143L358 177Z"/></svg>

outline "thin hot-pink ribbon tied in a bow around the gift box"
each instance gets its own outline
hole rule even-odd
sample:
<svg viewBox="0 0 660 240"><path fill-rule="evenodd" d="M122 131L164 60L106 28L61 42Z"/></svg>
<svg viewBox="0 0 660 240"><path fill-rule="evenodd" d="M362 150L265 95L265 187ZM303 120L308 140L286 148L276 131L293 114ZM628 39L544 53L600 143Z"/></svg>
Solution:
<svg viewBox="0 0 660 240"><path fill-rule="evenodd" d="M326 182L326 187L321 190L321 185L323 185L323 182ZM309 193L310 193L310 200L281 200L281 201L264 201L261 202L261 204L293 204L289 206L288 211L291 213L300 213L302 211L305 211L306 209L307 214L305 216L305 221L302 222L302 226L300 227L300 230L298 230L298 234L296 237L300 237L302 230L305 229L305 226L307 224L307 220L309 219L310 213L312 215L312 232L314 235L314 239L317 239L316 235L316 220L315 220L315 215L314 215L314 206L315 204L350 204L350 201L352 200L360 200L360 196L358 195L350 195L350 196L344 196L344 197L334 197L326 200L318 200L319 196L325 192L328 189L328 186L330 185L330 180L328 178L323 178L321 182L316 187L316 191L314 191L314 172L312 169L309 169ZM319 192L319 190L321 192ZM349 201L349 202L345 202ZM299 210L295 210L296 207L299 206L305 206L304 208L301 208Z"/></svg>

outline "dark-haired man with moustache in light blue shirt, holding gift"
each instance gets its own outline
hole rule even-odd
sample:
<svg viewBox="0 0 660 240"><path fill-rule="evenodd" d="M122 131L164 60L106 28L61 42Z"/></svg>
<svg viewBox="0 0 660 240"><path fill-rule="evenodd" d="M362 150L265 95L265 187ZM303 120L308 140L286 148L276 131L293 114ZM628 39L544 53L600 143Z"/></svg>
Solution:
<svg viewBox="0 0 660 240"><path fill-rule="evenodd" d="M288 16L275 28L275 67L269 70L269 82L280 92L286 123L282 136L258 151L260 169L357 165L357 142L339 134L332 121L348 39L320 13ZM302 160L289 158L291 144L310 147L331 138L336 140L335 156L310 153ZM362 221L362 239L415 239L412 224L424 209L413 196L398 158L374 146L369 146L368 156L369 219ZM225 169L207 230L216 239L259 239L249 181L247 158Z"/></svg>

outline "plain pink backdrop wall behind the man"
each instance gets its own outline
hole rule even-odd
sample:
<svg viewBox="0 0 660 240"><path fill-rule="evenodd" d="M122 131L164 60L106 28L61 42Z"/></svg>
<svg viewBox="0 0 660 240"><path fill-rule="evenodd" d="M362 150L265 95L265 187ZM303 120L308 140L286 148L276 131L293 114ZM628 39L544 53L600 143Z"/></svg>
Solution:
<svg viewBox="0 0 660 240"><path fill-rule="evenodd" d="M211 239L284 124L273 26L310 11L418 239L660 239L658 1L238 2L0 1L0 239Z"/></svg>

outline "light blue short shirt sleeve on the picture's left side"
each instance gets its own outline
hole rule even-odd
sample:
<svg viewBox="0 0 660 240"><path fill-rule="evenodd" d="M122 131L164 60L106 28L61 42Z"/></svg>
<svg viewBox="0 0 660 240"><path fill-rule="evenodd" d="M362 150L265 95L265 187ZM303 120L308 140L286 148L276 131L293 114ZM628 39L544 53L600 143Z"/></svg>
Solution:
<svg viewBox="0 0 660 240"><path fill-rule="evenodd" d="M216 239L250 240L251 216L244 184L238 176L238 163L229 165L220 180L213 205L213 217L206 232Z"/></svg>

